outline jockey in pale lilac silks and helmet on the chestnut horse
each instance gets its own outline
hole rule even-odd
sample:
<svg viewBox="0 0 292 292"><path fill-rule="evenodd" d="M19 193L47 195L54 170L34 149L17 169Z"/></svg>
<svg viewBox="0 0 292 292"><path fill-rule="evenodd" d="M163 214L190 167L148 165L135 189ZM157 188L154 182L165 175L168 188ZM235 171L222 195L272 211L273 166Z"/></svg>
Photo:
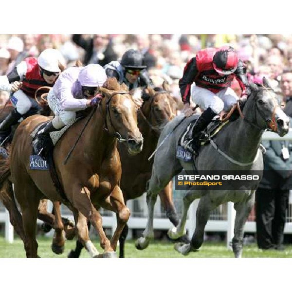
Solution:
<svg viewBox="0 0 292 292"><path fill-rule="evenodd" d="M107 80L105 70L98 64L71 67L62 72L49 91L48 104L55 117L37 133L33 141L35 153L45 149L50 132L73 122L76 111L97 105L101 99L98 88Z"/></svg>

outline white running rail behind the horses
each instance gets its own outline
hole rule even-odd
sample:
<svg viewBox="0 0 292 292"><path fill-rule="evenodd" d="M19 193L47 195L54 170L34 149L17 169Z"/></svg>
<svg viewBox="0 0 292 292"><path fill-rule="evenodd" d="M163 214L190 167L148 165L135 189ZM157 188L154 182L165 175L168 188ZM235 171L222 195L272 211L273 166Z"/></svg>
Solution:
<svg viewBox="0 0 292 292"><path fill-rule="evenodd" d="M263 134L263 140L290 140L292 141L292 128L289 130L289 133L284 137L279 137L277 134L273 132L265 132ZM180 193L182 191L175 191L174 190L174 201L177 205L178 210L180 210L180 205L182 203ZM190 207L189 211L189 218L187 219L186 228L188 234L191 236L195 230L196 226L196 210L198 201L196 200ZM137 211L137 206L140 206L140 212ZM229 248L229 242L231 241L232 237L234 236L234 220L236 212L234 210L234 204L229 202L226 205L219 207L215 213L211 215L209 219L205 231L206 232L227 232L227 247ZM131 231L133 229L144 229L146 226L146 215L147 215L147 205L146 205L146 198L142 196L133 201L128 202L128 207L131 210L131 217L128 221L129 227L129 237L131 236ZM66 208L62 209L62 215L64 217L70 217L73 219L73 216L67 213ZM217 213L217 215L216 215ZM161 204L158 200L158 203L155 207L155 214L156 217L154 218L153 226L155 229L160 230L168 230L172 227L172 224L169 222L167 218L165 218L164 212L161 211ZM9 222L9 214L5 211L4 207L0 206L0 222L5 223L5 239L8 242L13 242L13 227ZM38 223L41 221L38 220ZM110 214L106 212L103 215L103 226L105 228L111 228L112 230L116 227L116 218L114 214ZM248 221L245 225L245 232L256 232L256 222L255 221ZM292 202L290 201L289 204L289 211L287 214L287 222L285 224L285 234L292 234Z"/></svg>

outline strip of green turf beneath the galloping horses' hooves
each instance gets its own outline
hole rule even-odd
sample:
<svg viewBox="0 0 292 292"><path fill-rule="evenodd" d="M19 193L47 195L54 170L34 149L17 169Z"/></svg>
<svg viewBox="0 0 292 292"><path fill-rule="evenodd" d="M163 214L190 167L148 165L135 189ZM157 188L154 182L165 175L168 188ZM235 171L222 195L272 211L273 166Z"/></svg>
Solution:
<svg viewBox="0 0 292 292"><path fill-rule="evenodd" d="M70 250L75 246L75 241L66 241L65 251L62 255L55 255L51 250L52 239L48 237L37 237L38 255L41 257L67 257ZM94 240L94 245L101 252L99 242ZM135 241L129 240L126 243L126 257L184 257L174 250L174 244L170 242L155 241L144 251L136 250ZM244 246L243 257L292 257L292 246L285 246L285 251L267 250L262 251L256 247L256 244ZM23 243L16 238L12 244L7 243L3 237L0 237L0 257L25 257ZM83 250L81 257L89 257ZM200 251L191 253L186 257L234 257L233 252L227 250L224 242L204 242Z"/></svg>

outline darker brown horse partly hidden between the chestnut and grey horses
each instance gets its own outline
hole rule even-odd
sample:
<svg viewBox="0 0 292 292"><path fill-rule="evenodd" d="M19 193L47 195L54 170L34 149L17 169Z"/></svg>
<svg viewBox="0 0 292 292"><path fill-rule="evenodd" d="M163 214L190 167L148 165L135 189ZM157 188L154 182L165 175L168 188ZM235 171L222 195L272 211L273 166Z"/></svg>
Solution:
<svg viewBox="0 0 292 292"><path fill-rule="evenodd" d="M176 116L177 110L183 106L182 102L173 98L169 92L169 86L164 82L162 88L147 88L143 93L144 102L138 112L138 127L144 138L143 150L135 156L129 156L124 145L118 146L123 169L121 189L125 201L138 198L146 191L146 183L151 177L153 164L153 160L148 161L148 158L157 146L164 125L172 120ZM160 198L167 217L177 226L179 218L172 201L172 183L169 183L160 192ZM125 256L124 247L127 234L128 226L126 225L119 239L120 257ZM82 248L81 242L77 241L76 248L70 252L69 257L79 257Z"/></svg>

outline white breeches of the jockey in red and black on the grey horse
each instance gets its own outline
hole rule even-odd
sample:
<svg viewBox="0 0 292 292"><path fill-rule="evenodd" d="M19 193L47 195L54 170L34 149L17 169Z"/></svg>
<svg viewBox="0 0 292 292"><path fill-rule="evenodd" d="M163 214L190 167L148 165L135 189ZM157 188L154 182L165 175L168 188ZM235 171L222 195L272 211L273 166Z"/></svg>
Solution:
<svg viewBox="0 0 292 292"><path fill-rule="evenodd" d="M230 110L239 99L235 91L230 87L214 93L205 88L193 86L191 88L191 96L194 103L199 105L201 109L211 108L217 114L222 110Z"/></svg>

